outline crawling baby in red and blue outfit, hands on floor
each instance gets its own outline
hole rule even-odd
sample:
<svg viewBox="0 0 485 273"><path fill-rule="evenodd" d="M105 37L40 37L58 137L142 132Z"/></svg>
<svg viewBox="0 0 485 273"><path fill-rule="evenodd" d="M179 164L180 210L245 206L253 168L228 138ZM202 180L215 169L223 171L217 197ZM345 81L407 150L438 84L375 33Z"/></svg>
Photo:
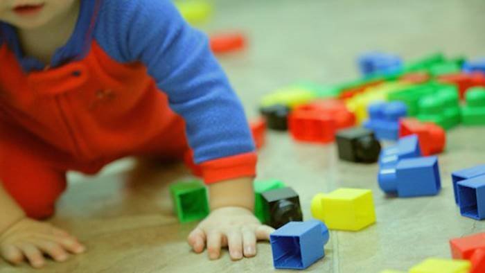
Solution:
<svg viewBox="0 0 485 273"><path fill-rule="evenodd" d="M0 255L64 261L85 247L44 218L67 170L121 157L200 164L211 213L188 236L209 258L256 254L256 154L206 37L169 0L0 1Z"/></svg>

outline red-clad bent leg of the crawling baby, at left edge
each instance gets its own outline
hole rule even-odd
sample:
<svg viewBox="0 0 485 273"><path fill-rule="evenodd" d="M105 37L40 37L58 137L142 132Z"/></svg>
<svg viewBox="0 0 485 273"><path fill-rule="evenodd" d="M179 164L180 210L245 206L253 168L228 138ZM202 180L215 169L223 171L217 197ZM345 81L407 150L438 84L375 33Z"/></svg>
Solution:
<svg viewBox="0 0 485 273"><path fill-rule="evenodd" d="M48 218L66 188L65 172L47 166L30 148L12 134L0 136L0 181L30 218Z"/></svg>

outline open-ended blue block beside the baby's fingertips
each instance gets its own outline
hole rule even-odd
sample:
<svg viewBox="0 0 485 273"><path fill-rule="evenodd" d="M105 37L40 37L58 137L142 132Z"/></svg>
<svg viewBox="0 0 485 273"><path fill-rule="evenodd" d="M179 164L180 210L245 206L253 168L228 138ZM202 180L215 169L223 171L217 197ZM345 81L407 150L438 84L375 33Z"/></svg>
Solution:
<svg viewBox="0 0 485 273"><path fill-rule="evenodd" d="M318 220L288 222L270 235L273 264L278 269L303 270L325 256L329 234Z"/></svg>

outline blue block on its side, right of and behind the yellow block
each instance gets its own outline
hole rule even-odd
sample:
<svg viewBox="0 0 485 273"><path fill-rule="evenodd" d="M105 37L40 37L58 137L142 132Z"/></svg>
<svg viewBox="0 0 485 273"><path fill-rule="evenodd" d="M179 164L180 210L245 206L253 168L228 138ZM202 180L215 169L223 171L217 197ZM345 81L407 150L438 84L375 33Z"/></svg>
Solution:
<svg viewBox="0 0 485 273"><path fill-rule="evenodd" d="M438 157L402 159L394 168L382 168L378 182L382 191L398 197L436 195L441 189Z"/></svg>

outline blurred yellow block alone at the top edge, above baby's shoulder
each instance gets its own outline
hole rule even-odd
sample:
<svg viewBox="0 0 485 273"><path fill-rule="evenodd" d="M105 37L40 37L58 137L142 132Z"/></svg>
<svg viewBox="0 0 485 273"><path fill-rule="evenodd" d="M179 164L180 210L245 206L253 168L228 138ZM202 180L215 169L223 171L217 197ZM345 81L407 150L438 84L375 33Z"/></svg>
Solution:
<svg viewBox="0 0 485 273"><path fill-rule="evenodd" d="M202 0L180 0L175 2L182 17L190 24L200 24L212 14L212 5Z"/></svg>

